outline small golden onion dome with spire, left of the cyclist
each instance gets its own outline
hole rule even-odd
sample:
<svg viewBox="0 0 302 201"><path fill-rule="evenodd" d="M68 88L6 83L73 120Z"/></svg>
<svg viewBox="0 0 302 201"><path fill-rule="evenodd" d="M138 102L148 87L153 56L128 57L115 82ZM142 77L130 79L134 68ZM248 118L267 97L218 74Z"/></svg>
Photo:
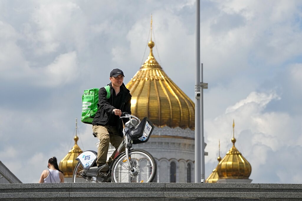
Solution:
<svg viewBox="0 0 302 201"><path fill-rule="evenodd" d="M78 157L78 155L80 155L83 152L82 149L77 144L77 141L79 140L77 134L73 139L75 141L75 145L59 163L59 169L63 171L64 177L72 177L73 171L76 167L76 164L78 163L78 161L75 159Z"/></svg>

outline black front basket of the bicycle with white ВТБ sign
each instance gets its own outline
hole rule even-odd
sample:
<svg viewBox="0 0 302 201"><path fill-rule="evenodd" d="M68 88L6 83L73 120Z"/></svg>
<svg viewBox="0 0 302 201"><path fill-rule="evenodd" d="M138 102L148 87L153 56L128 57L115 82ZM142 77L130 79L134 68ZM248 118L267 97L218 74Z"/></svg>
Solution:
<svg viewBox="0 0 302 201"><path fill-rule="evenodd" d="M144 117L137 128L129 130L129 136L133 140L133 144L145 143L149 140L153 130L154 125L147 117Z"/></svg>

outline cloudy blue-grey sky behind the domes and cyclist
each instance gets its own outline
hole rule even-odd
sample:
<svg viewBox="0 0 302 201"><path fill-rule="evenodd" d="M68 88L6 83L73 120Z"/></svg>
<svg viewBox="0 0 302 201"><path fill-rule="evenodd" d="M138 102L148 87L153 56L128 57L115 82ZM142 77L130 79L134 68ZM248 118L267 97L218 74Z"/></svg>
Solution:
<svg viewBox="0 0 302 201"><path fill-rule="evenodd" d="M194 101L195 1L0 1L0 160L36 183L73 146L83 90L154 55ZM253 183L302 180L302 2L201 1L206 177L232 143ZM147 48L147 49L146 49ZM96 150L78 123L79 146ZM294 173L294 174L293 174Z"/></svg>

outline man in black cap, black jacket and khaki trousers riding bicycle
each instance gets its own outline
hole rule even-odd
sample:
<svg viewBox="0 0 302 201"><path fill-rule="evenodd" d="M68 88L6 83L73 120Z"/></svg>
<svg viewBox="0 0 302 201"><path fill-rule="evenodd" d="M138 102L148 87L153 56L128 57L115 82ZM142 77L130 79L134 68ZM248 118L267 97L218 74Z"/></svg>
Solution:
<svg viewBox="0 0 302 201"><path fill-rule="evenodd" d="M111 83L109 99L106 98L107 91L104 87L98 93L98 111L92 121L92 131L100 140L98 146L98 158L96 164L98 172L106 172L111 165L116 150L107 160L109 142L117 149L123 141L123 123L119 118L122 112L131 114L131 94L123 83L124 73L120 69L113 69L110 72ZM113 114L114 113L114 114ZM127 119L123 119L126 123ZM122 150L122 152L125 148Z"/></svg>

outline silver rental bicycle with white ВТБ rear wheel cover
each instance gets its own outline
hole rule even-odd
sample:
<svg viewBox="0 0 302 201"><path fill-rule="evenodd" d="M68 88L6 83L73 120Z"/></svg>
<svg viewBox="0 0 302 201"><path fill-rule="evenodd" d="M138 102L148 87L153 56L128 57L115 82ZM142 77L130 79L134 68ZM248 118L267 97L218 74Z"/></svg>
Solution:
<svg viewBox="0 0 302 201"><path fill-rule="evenodd" d="M131 149L133 144L146 143L154 130L147 117L142 121L134 115L123 112L120 118L129 118L123 129L124 140L117 149L109 170L98 172L98 153L88 150L80 154L72 175L72 182L152 182L156 175L154 157L143 149ZM125 146L126 151L121 152Z"/></svg>

